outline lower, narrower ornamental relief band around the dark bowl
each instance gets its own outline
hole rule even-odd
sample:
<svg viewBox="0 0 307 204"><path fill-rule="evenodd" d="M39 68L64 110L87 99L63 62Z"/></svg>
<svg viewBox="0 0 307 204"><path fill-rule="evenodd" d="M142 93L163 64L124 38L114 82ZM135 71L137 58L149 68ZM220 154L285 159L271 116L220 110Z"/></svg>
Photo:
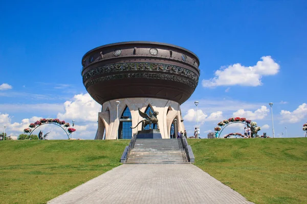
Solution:
<svg viewBox="0 0 307 204"><path fill-rule="evenodd" d="M170 74L162 74L162 73L122 73L122 74L113 74L113 75L107 75L104 77L96 78L94 80L91 80L90 82L86 83L85 88L89 88L90 86L98 83L98 82L104 82L109 80L117 80L117 79L129 79L129 78L145 78L145 79L161 79L161 80L168 80L168 81L174 81L174 82L180 82L183 84L186 84L193 89L196 88L197 82L192 82L190 80L184 79L182 77L177 77Z"/></svg>

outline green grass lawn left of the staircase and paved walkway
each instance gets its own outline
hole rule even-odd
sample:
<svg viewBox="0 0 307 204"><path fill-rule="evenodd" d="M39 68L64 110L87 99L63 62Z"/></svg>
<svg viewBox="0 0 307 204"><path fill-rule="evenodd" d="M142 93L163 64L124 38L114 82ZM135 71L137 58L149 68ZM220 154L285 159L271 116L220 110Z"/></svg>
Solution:
<svg viewBox="0 0 307 204"><path fill-rule="evenodd" d="M45 203L120 165L129 140L0 141L0 203Z"/></svg>

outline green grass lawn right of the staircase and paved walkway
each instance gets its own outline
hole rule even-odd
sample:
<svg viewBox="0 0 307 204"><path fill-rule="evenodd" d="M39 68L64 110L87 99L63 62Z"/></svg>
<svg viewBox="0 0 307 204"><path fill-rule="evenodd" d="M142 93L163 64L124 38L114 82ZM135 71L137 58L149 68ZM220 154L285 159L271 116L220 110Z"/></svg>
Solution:
<svg viewBox="0 0 307 204"><path fill-rule="evenodd" d="M195 165L255 203L307 203L307 138L189 139Z"/></svg>

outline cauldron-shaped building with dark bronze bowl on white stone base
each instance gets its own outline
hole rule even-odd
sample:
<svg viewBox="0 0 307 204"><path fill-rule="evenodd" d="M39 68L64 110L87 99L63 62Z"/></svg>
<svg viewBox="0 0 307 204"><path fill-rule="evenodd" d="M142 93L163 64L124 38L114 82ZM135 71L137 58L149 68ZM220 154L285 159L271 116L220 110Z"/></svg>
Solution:
<svg viewBox="0 0 307 204"><path fill-rule="evenodd" d="M87 52L82 58L83 84L102 105L95 139L116 139L117 134L130 139L142 128L130 128L143 119L138 108L159 112L162 138L184 131L180 105L198 85L199 65L191 51L158 42L120 42Z"/></svg>

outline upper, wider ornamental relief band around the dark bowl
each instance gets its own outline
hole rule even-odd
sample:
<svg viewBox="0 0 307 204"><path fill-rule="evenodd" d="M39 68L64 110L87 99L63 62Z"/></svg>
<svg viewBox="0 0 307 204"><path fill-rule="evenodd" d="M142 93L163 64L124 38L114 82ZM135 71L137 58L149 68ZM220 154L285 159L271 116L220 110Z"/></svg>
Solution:
<svg viewBox="0 0 307 204"><path fill-rule="evenodd" d="M192 79L196 84L198 83L198 75L193 71L169 64L160 64L160 63L118 63L118 64L109 64L101 67L91 69L90 71L85 72L83 75L83 83L96 75L111 73L117 71L138 71L138 70L148 70L148 71L161 71L169 72L183 75L184 77Z"/></svg>

